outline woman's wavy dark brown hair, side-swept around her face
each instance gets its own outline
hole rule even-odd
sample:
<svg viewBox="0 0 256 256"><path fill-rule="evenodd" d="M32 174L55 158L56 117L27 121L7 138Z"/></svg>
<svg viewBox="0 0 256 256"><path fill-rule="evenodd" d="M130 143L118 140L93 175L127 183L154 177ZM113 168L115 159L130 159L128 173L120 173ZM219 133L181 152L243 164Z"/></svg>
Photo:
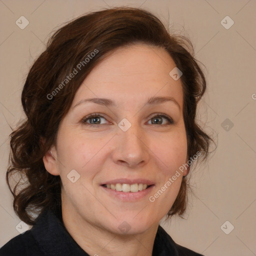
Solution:
<svg viewBox="0 0 256 256"><path fill-rule="evenodd" d="M34 224L32 214L38 210L49 208L56 214L61 211L60 176L46 171L42 157L55 143L59 122L67 113L81 82L113 49L137 42L164 48L182 71L187 158L197 151L201 153L200 158L207 158L212 139L195 123L196 105L205 91L206 82L193 52L189 53L189 48L193 51L191 42L184 36L170 34L157 17L140 8L117 7L82 15L55 31L46 50L32 64L21 94L26 118L10 134L6 181L13 195L14 211L27 224ZM96 51L86 62L86 56L92 56L91 53ZM74 68L77 70L78 63L83 63L80 64L81 71L64 84L66 76ZM20 178L12 191L10 176L16 172L26 180L20 182ZM182 179L167 217L184 213L186 179Z"/></svg>

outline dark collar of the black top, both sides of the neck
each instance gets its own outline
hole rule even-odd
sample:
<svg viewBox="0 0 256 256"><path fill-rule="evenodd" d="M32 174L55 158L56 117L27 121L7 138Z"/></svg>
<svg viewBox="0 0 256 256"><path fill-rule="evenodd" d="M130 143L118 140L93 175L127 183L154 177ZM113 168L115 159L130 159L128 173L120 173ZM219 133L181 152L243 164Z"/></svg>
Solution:
<svg viewBox="0 0 256 256"><path fill-rule="evenodd" d="M51 210L45 210L37 217L31 233L45 255L89 256L72 238L63 225L62 218ZM97 252L95 252L97 253ZM152 256L178 256L175 242L158 225Z"/></svg>

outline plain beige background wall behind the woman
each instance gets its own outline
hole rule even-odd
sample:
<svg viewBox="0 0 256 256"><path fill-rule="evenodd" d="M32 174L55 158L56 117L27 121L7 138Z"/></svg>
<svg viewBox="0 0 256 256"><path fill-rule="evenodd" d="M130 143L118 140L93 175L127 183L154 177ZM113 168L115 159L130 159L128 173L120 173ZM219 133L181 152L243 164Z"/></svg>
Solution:
<svg viewBox="0 0 256 256"><path fill-rule="evenodd" d="M196 58L206 66L208 89L198 119L218 146L193 172L196 197L190 198L186 219L174 217L163 227L177 243L206 256L256 255L255 0L0 0L0 246L19 234L5 171L8 123L14 127L23 116L20 93L28 68L54 27L117 5L151 10L166 25L169 19L191 39ZM21 15L29 21L24 29L15 24ZM220 23L226 15L234 21L229 29ZM233 123L228 131L226 118ZM229 234L220 228L226 220L234 226Z"/></svg>

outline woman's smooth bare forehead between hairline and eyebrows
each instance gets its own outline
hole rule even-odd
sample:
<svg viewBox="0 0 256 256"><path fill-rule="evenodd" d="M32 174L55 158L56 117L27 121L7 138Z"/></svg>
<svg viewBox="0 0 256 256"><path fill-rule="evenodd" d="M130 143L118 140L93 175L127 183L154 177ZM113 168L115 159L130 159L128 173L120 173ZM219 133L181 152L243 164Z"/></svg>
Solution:
<svg viewBox="0 0 256 256"><path fill-rule="evenodd" d="M72 106L89 97L115 101L145 101L152 96L171 96L182 105L180 79L169 72L175 63L167 51L145 44L122 46L98 63L78 88Z"/></svg>

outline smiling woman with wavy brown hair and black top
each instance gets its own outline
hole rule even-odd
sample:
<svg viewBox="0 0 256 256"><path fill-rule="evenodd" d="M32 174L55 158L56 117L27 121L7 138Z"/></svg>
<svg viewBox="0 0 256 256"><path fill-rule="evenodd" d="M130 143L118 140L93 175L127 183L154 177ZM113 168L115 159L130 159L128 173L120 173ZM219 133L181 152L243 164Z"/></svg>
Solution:
<svg viewBox="0 0 256 256"><path fill-rule="evenodd" d="M0 255L200 255L159 225L182 217L190 165L213 141L195 122L206 84L189 49L139 8L91 12L52 35L10 134L6 181L32 228ZM26 182L12 187L14 173Z"/></svg>

